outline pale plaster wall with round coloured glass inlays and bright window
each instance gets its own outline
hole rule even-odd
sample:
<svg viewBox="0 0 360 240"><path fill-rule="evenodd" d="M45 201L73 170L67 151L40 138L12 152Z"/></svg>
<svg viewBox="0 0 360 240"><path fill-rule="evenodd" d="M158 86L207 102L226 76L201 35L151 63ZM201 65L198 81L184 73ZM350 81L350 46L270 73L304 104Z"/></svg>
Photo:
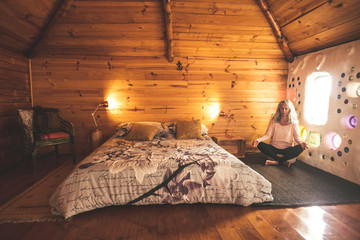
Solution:
<svg viewBox="0 0 360 240"><path fill-rule="evenodd" d="M360 40L297 57L287 97L309 145L299 159L360 184Z"/></svg>

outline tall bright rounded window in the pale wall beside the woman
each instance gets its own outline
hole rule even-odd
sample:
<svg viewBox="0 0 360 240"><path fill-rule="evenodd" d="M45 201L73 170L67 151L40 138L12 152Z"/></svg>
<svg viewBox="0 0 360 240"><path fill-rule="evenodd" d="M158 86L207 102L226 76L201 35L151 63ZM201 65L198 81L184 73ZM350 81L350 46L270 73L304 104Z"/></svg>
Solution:
<svg viewBox="0 0 360 240"><path fill-rule="evenodd" d="M325 72L312 73L306 78L304 118L309 124L327 122L331 82L331 76Z"/></svg>

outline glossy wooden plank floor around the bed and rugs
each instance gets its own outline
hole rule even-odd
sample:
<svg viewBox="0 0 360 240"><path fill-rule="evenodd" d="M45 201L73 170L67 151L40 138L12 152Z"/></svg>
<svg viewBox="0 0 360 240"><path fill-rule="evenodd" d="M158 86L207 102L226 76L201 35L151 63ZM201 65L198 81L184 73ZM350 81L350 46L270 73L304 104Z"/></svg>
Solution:
<svg viewBox="0 0 360 240"><path fill-rule="evenodd" d="M60 164L71 161L62 157ZM4 203L56 167L41 159L0 175ZM118 206L68 221L0 224L1 239L360 239L360 204L299 208L235 205Z"/></svg>

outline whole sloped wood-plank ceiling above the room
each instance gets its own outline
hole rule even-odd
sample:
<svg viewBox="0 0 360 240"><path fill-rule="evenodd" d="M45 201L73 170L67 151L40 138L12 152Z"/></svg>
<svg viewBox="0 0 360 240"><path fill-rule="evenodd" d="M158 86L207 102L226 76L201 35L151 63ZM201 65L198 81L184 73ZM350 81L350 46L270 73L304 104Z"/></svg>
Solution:
<svg viewBox="0 0 360 240"><path fill-rule="evenodd" d="M286 46L297 56L360 39L359 12L359 0L2 0L0 47L159 57L170 45L175 57L289 60Z"/></svg>

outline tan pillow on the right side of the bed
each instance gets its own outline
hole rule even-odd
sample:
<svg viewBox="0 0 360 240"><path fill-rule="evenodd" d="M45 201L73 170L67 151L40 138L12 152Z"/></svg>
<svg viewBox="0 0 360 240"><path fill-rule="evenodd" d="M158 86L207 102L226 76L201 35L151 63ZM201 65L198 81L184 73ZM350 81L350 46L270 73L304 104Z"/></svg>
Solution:
<svg viewBox="0 0 360 240"><path fill-rule="evenodd" d="M176 139L193 139L201 136L200 120L177 121L176 122Z"/></svg>

